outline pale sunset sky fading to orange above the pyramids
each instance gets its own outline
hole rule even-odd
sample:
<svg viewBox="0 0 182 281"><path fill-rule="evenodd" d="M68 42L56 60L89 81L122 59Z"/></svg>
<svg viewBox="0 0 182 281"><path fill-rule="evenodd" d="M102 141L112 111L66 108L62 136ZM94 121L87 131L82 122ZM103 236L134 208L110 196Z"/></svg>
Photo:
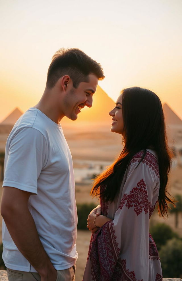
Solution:
<svg viewBox="0 0 182 281"><path fill-rule="evenodd" d="M146 87L182 118L181 15L181 0L0 0L0 121L39 101L61 47L102 64L99 85L114 101Z"/></svg>

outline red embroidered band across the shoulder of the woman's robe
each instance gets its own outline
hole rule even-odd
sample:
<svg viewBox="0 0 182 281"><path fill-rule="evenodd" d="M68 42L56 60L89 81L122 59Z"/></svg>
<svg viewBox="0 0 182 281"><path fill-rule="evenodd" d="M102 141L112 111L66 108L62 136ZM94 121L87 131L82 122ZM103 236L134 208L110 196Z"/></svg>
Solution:
<svg viewBox="0 0 182 281"><path fill-rule="evenodd" d="M140 152L138 152L137 154L135 154L130 162L129 165L131 165L131 163L135 163L136 161L140 162L142 159L144 151L141 150ZM157 177L159 178L159 165L158 165L158 160L157 158L154 156L154 154L152 154L151 152L147 151L145 154L144 159L142 160L143 164L146 164L147 166L149 166L150 168L152 168L152 170L155 172L155 174L157 175Z"/></svg>

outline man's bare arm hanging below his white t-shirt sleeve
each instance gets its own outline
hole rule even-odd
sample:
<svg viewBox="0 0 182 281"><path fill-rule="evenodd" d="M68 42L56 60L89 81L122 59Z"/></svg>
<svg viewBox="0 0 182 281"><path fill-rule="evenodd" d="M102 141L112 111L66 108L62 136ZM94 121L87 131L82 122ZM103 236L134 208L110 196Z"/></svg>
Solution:
<svg viewBox="0 0 182 281"><path fill-rule="evenodd" d="M35 222L28 210L30 195L30 192L14 187L4 187L1 215L18 250L40 274L41 281L55 281L57 270L42 246Z"/></svg>

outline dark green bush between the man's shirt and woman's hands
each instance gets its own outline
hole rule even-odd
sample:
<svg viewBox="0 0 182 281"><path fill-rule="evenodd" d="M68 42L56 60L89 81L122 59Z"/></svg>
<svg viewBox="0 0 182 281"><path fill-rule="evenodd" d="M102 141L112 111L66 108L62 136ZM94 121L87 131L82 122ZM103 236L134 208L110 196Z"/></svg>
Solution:
<svg viewBox="0 0 182 281"><path fill-rule="evenodd" d="M96 207L94 203L90 204L77 204L77 213L78 213L78 226L77 229L88 229L87 225L87 218L90 214L90 211Z"/></svg>

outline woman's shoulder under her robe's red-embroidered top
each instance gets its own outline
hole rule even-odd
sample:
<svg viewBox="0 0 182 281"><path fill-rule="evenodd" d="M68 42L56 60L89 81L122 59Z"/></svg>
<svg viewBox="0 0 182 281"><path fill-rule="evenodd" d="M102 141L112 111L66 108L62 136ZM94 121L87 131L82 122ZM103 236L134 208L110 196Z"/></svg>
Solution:
<svg viewBox="0 0 182 281"><path fill-rule="evenodd" d="M146 153L144 153L144 150L137 152L131 159L129 166L141 167L142 165L148 167L152 169L159 178L159 165L156 152L153 149L147 149ZM138 165L139 163L140 165Z"/></svg>

